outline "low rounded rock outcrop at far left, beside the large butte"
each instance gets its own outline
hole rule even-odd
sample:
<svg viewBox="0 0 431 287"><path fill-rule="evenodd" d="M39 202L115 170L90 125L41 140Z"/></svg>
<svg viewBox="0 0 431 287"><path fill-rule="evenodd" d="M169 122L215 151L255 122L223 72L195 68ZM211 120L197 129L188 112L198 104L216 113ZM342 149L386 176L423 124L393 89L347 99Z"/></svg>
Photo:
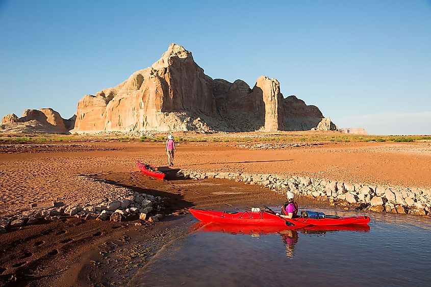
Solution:
<svg viewBox="0 0 431 287"><path fill-rule="evenodd" d="M69 130L74 126L74 119L75 117L65 120L53 109L25 110L20 118L15 114L4 116L0 125L0 131L11 133L70 134Z"/></svg>

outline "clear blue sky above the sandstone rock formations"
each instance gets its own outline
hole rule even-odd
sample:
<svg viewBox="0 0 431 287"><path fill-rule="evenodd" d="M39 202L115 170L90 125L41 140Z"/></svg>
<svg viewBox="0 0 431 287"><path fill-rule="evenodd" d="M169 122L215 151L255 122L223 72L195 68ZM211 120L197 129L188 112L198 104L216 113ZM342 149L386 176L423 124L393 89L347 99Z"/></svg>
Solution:
<svg viewBox="0 0 431 287"><path fill-rule="evenodd" d="M0 39L0 117L69 118L175 42L214 79L275 77L338 127L431 134L429 1L0 0Z"/></svg>

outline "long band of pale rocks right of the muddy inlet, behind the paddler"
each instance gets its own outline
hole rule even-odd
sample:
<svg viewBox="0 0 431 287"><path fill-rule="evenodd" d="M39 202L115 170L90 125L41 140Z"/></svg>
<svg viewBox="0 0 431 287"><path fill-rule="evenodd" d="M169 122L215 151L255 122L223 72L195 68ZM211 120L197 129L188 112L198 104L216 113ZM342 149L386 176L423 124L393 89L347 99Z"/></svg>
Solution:
<svg viewBox="0 0 431 287"><path fill-rule="evenodd" d="M331 205L355 205L363 210L431 216L431 190L385 185L352 184L350 182L271 174L240 172L203 172L181 170L186 178L225 178L244 181L250 185L262 185L285 194L292 191L317 200L327 200Z"/></svg>

